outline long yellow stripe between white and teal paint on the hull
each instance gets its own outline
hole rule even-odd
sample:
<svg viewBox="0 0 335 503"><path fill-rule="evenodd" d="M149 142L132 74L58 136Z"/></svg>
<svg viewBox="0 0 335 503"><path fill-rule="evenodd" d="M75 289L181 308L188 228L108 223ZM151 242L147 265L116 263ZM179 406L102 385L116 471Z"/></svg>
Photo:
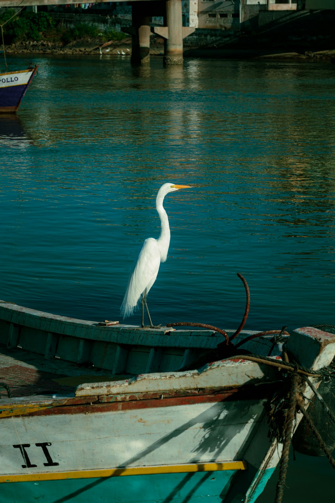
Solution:
<svg viewBox="0 0 335 503"><path fill-rule="evenodd" d="M224 461L222 463L192 463L185 465L141 466L134 468L111 468L104 470L76 470L52 473L25 473L20 475L0 475L0 482L35 482L39 480L65 480L69 478L120 477L124 475L154 475L158 473L192 473L221 470L246 470L245 461Z"/></svg>

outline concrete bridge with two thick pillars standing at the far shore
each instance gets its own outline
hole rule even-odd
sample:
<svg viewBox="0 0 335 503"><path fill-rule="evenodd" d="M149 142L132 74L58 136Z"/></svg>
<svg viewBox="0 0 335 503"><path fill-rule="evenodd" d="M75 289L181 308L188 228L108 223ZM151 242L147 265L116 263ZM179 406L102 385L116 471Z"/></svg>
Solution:
<svg viewBox="0 0 335 503"><path fill-rule="evenodd" d="M102 2L104 1L107 0L102 0ZM99 0L100 2L101 0ZM74 3L77 4L77 0L0 0L0 7L22 8L32 5ZM150 21L153 16L162 16L164 26L150 27ZM132 36L132 62L149 62L150 35L151 33L156 33L164 39L164 64L182 64L183 38L193 33L194 28L182 26L181 0L132 0L132 27L123 28L122 30Z"/></svg>

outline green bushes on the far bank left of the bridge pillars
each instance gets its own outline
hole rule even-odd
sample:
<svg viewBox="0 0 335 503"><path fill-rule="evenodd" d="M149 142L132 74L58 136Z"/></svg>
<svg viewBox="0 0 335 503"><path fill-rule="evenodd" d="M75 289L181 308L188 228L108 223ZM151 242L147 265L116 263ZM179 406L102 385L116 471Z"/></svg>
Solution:
<svg viewBox="0 0 335 503"><path fill-rule="evenodd" d="M15 11L6 9L5 12L0 12L0 24L4 24L12 16ZM26 40L41 39L50 42L62 42L66 45L75 40L92 40L96 39L99 42L107 42L109 40L123 40L128 35L122 32L117 32L107 28L101 30L95 24L76 23L72 28L66 28L62 24L55 25L52 17L46 12L21 12L18 16L14 16L11 21L4 25L4 37L6 44L21 42Z"/></svg>

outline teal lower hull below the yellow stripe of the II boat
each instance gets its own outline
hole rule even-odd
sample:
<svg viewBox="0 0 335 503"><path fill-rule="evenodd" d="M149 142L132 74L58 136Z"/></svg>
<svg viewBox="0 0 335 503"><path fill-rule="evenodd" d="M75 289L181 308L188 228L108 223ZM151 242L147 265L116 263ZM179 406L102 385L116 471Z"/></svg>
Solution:
<svg viewBox="0 0 335 503"><path fill-rule="evenodd" d="M236 470L11 482L1 485L6 503L221 503Z"/></svg>

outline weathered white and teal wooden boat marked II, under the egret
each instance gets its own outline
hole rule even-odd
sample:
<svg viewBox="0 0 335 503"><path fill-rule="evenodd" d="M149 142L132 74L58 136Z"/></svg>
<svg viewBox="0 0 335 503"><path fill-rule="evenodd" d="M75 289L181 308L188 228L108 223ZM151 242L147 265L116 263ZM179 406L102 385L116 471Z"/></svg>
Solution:
<svg viewBox="0 0 335 503"><path fill-rule="evenodd" d="M335 336L316 328L285 340L311 371L335 354ZM283 344L263 336L244 346L267 361L233 356L179 370L222 341L210 330L142 329L0 301L4 501L256 501L282 449L268 437L264 405L278 389L272 364L284 365ZM307 385L303 395L312 396Z"/></svg>

